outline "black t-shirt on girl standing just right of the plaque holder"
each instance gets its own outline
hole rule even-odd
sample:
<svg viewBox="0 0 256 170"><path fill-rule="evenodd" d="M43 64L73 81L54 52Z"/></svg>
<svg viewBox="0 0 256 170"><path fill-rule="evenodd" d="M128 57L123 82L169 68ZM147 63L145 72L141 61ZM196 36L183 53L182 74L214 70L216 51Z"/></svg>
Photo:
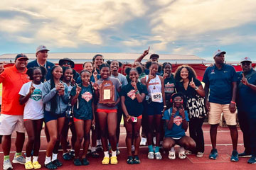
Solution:
<svg viewBox="0 0 256 170"><path fill-rule="evenodd" d="M139 94L148 94L146 86L140 82L137 83L137 89L139 91ZM139 103L137 101L134 87L130 83L122 87L121 96L125 97L124 104L127 108L129 115L135 117L142 115L144 109L143 103Z"/></svg>

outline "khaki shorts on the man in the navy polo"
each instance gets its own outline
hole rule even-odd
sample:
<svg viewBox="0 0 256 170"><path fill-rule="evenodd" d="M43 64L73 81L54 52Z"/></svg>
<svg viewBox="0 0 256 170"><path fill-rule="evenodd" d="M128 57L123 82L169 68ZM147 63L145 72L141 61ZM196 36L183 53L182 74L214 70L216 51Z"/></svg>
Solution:
<svg viewBox="0 0 256 170"><path fill-rule="evenodd" d="M236 113L231 113L229 104L210 103L210 112L208 115L208 123L217 125L220 123L221 113L223 113L227 125L237 125Z"/></svg>

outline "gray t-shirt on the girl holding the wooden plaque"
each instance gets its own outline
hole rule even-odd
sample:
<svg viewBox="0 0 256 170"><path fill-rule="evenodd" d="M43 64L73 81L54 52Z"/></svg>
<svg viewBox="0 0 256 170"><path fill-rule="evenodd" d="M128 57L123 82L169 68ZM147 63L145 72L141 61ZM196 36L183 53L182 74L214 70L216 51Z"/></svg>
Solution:
<svg viewBox="0 0 256 170"><path fill-rule="evenodd" d="M119 79L117 78L114 78L114 77L108 77L107 79L105 80L110 80L112 81L113 83L113 86L114 86L114 101L117 101L117 98L118 98L118 92L117 92L117 89L119 89L122 85L119 81ZM102 82L104 81L104 79L98 79L98 81L96 82L99 86L100 84L102 84ZM97 108L100 108L100 109L108 109L108 110L112 110L112 109L117 109L118 105L117 106L114 106L114 107L108 107L106 104L100 104L100 103L97 103Z"/></svg>

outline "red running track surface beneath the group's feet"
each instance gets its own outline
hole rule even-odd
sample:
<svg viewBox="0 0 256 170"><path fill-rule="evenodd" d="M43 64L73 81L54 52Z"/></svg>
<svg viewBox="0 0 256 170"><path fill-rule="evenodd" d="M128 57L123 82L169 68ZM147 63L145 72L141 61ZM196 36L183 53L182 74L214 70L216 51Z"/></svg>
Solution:
<svg viewBox="0 0 256 170"><path fill-rule="evenodd" d="M90 162L90 165L88 166L74 166L73 161L64 161L62 158L62 151L58 154L58 159L60 159L61 162L63 162L63 166L61 166L58 169L93 169L93 170L110 170L110 169L122 169L122 170L129 170L129 169L256 169L255 164L247 164L248 158L240 158L239 162L230 162L230 154L233 151L232 148L232 142L230 138L230 132L228 128L218 128L218 136L217 136L217 149L218 149L218 159L216 160L210 160L208 159L208 156L210 154L210 134L209 134L210 126L209 125L203 125L203 132L204 132L204 138L205 138L205 154L202 158L197 158L195 155L189 155L186 159L178 159L178 147L176 147L176 159L170 160L168 159L168 154L163 154L162 160L149 160L147 159L147 147L141 147L139 152L139 158L141 160L141 164L137 165L129 165L126 163L127 160L127 151L126 151L126 145L125 145L125 128L121 127L121 135L120 135L120 141L119 141L119 150L121 154L118 156L118 164L117 165L102 165L101 161L103 158L103 153L100 152L100 158L93 159L90 156L87 156L87 159ZM44 134L44 130L41 132L41 149L39 153L39 163L43 165L44 159L46 157L46 137ZM242 144L242 132L240 128L238 128L238 152L243 152L243 144ZM71 134L69 134L71 135ZM188 135L188 133L187 133ZM70 136L69 136L70 138ZM27 137L26 137L27 140ZM11 154L10 158L11 160L14 157L15 153L15 133L12 135L12 143L11 143ZM26 144L26 141L25 141ZM25 146L23 146L23 152L24 152ZM0 169L2 169L3 164L3 158L4 154L2 152L2 148L0 148ZM21 164L13 164L14 169L25 169L23 165ZM44 167L42 169L45 169Z"/></svg>

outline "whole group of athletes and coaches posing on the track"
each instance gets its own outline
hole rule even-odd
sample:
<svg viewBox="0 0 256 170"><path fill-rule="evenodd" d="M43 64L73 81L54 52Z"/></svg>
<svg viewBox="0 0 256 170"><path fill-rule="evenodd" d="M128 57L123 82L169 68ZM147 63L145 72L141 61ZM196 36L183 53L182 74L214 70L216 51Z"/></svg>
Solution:
<svg viewBox="0 0 256 170"><path fill-rule="evenodd" d="M14 66L0 65L4 169L13 169L9 153L14 131L16 154L12 162L24 164L25 169L41 168L38 152L43 122L48 142L44 162L47 169L62 166L58 159L60 144L63 159L73 159L75 166L90 164L89 148L92 157L99 157L96 149L99 146L104 153L102 164L117 164L122 116L127 131L127 164L140 163L141 127L149 148L148 159L162 159L161 146L169 152L169 159L176 159L175 145L180 146L180 159L185 159L186 154L203 157L202 125L207 113L213 147L209 158L218 157L216 136L223 113L233 142L230 161L250 157L248 163L256 164L256 100L253 99L256 71L249 57L241 60L242 72L235 72L234 67L224 63L225 52L218 50L213 55L215 64L208 67L203 76L203 87L188 65L179 66L173 74L171 63L159 64L156 54L142 64L149 49L132 67L126 68L126 76L118 72L122 63L105 62L102 55L85 62L78 73L73 69L75 63L68 58L60 60L58 65L48 62L48 51L40 45L36 49L36 60L28 62L26 55L18 54ZM245 143L245 152L240 154L236 107ZM72 132L70 151L69 129ZM187 129L190 136L185 133ZM21 154L25 132L28 134L26 158Z"/></svg>

